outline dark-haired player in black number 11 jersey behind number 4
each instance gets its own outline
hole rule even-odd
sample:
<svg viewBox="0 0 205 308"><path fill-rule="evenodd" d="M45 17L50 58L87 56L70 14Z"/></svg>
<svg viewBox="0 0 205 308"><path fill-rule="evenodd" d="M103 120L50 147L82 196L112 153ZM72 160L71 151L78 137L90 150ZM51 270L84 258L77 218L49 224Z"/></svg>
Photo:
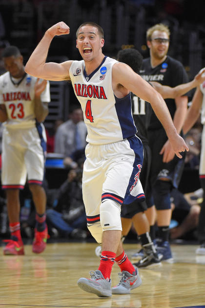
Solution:
<svg viewBox="0 0 205 308"><path fill-rule="evenodd" d="M143 63L143 57L141 53L132 48L127 48L120 50L117 55L117 59L129 65L136 73L139 73L140 68ZM187 84L177 86L175 88L170 88L167 86L162 86L157 82L150 82L150 84L161 93L163 98L166 97L177 97L184 92L190 90L191 88L197 87L205 79L202 77L203 72L196 75L195 79ZM152 108L149 103L144 102L141 98L137 97L131 93L132 97L132 114L134 118L135 125L137 127L137 135L143 142L143 168L140 174L140 180L143 185L143 191L145 197L149 199L150 195L150 184L148 183L149 170L151 164L151 150L148 145L148 127L150 124L150 118L152 114ZM123 205L121 207L121 220L122 220L122 236L124 239L128 234L131 224L133 223L135 230L139 236L140 243L143 246L143 258L136 265L138 267L147 267L153 265L159 265L162 255L156 253L156 249L151 241L149 234L149 222L145 215L147 210L146 201L143 202L133 202L129 206Z"/></svg>

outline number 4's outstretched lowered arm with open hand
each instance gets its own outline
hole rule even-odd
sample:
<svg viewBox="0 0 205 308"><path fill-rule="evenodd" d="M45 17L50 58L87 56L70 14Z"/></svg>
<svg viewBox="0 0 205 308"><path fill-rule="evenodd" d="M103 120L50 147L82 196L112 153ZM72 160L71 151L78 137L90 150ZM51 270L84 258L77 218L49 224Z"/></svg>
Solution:
<svg viewBox="0 0 205 308"><path fill-rule="evenodd" d="M152 109L164 127L173 151L178 157L182 158L182 155L179 152L184 152L185 150L188 151L188 147L185 144L184 139L177 133L162 96L152 86L144 81L143 78L134 73L129 66L123 63L118 63L113 66L112 77L113 90L114 93L117 94L117 97L119 92L118 85L121 84L124 88L129 89L143 100L150 102Z"/></svg>

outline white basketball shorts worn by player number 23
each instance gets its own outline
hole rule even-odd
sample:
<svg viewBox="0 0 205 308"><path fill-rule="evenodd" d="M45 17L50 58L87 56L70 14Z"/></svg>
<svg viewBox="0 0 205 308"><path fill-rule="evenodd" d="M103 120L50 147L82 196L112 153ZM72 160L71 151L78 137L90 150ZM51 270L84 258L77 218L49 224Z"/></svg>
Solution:
<svg viewBox="0 0 205 308"><path fill-rule="evenodd" d="M44 175L45 138L42 130L31 129L3 130L2 172L3 189L23 189L26 177L28 183L41 185Z"/></svg>

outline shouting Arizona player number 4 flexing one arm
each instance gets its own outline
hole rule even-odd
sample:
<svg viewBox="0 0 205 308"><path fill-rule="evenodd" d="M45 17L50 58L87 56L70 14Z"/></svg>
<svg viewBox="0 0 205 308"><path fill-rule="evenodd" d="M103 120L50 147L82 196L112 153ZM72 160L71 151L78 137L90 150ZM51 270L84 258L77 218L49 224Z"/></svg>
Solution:
<svg viewBox="0 0 205 308"><path fill-rule="evenodd" d="M121 204L144 199L139 181L143 147L135 135L130 91L151 103L178 157L188 147L176 132L161 95L129 66L102 54L103 30L98 24L85 22L77 30L82 61L45 63L52 39L62 34L69 34L64 22L49 28L25 70L47 80L71 80L87 126L82 193L88 229L102 242L102 257L99 268L90 272L91 279L80 278L78 285L101 297L130 293L141 285L141 278L123 251ZM118 286L111 289L114 260L122 273Z"/></svg>

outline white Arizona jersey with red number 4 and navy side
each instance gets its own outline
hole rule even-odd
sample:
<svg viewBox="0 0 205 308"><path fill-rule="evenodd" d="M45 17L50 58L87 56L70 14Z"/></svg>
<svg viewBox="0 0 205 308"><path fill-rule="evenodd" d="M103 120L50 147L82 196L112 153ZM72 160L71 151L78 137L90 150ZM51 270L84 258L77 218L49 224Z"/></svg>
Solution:
<svg viewBox="0 0 205 308"><path fill-rule="evenodd" d="M115 63L116 60L104 57L101 65L89 76L83 60L73 61L69 70L87 126L86 141L91 144L117 142L137 132L130 94L119 99L113 93L112 66Z"/></svg>

